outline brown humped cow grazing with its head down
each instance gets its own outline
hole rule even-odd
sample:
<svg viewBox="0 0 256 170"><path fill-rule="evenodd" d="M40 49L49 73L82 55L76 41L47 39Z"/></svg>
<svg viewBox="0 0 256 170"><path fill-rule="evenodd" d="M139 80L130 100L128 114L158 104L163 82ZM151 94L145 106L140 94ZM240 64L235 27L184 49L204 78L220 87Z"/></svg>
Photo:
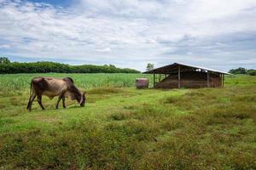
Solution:
<svg viewBox="0 0 256 170"><path fill-rule="evenodd" d="M69 99L76 99L80 106L84 107L85 96L81 93L78 88L74 86L73 79L66 77L63 79L52 78L52 77L34 77L31 81L30 87L30 98L27 103L26 109L28 111L32 110L32 102L38 96L38 104L44 110L42 105L42 95L46 95L49 99L53 99L55 96L59 96L56 104L56 109L59 108L59 103L62 99L63 107L65 105L65 97Z"/></svg>

